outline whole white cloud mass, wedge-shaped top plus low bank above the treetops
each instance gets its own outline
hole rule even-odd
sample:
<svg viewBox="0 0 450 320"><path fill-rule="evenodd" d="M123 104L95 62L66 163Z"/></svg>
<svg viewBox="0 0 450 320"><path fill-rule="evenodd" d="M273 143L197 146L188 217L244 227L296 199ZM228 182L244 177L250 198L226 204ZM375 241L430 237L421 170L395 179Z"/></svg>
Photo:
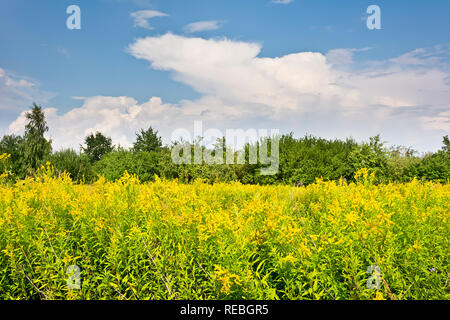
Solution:
<svg viewBox="0 0 450 320"><path fill-rule="evenodd" d="M139 128L152 125L167 142L173 130L203 120L220 130L279 128L328 138L382 133L394 144L439 148L450 120L450 68L442 48L357 68L353 55L361 50L367 48L268 58L259 57L258 43L226 38L167 33L137 39L128 47L131 55L169 72L201 98L177 104L158 97L143 104L129 97L86 98L66 114L46 111L51 134L58 146L76 146L98 130L126 146ZM10 130L23 127L21 121Z"/></svg>

